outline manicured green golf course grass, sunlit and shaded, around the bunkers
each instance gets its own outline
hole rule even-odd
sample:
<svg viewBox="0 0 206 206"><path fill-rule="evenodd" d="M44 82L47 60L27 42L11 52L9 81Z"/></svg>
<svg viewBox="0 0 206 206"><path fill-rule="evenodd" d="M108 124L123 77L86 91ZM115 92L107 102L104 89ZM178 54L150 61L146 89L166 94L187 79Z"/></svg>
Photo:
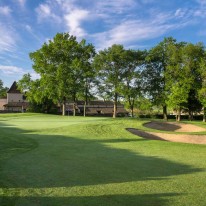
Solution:
<svg viewBox="0 0 206 206"><path fill-rule="evenodd" d="M0 205L205 206L206 145L125 130L144 122L0 115Z"/></svg>

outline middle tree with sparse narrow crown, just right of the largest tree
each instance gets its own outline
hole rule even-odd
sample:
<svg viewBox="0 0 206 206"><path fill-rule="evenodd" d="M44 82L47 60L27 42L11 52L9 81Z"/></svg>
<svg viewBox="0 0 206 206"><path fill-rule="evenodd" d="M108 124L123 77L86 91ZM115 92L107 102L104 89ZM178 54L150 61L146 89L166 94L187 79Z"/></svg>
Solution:
<svg viewBox="0 0 206 206"><path fill-rule="evenodd" d="M112 45L100 51L94 58L94 68L98 73L101 89L114 101L113 118L117 115L117 101L121 93L121 85L125 75L126 51L122 45Z"/></svg>

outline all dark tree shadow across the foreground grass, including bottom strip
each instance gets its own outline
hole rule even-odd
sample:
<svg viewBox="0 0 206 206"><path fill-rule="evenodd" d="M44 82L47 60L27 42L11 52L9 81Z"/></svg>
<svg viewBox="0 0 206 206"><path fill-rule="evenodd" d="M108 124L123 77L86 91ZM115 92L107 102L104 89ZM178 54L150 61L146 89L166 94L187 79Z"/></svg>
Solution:
<svg viewBox="0 0 206 206"><path fill-rule="evenodd" d="M3 126L0 123L0 187L5 193L0 198L0 205L16 205L17 201L21 202L19 205L165 205L165 194L28 198L19 197L18 188L158 181L175 175L203 171L166 159L114 148L110 144L135 144L135 139L98 141L31 134L32 131ZM17 192L8 194L8 188L16 188ZM175 195L177 194L171 194ZM31 201L32 204L24 201Z"/></svg>

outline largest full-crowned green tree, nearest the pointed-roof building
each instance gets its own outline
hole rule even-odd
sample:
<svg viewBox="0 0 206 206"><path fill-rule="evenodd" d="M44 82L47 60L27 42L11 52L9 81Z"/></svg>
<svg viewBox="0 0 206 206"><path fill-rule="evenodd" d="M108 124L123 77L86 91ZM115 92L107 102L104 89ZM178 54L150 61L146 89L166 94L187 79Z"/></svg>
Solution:
<svg viewBox="0 0 206 206"><path fill-rule="evenodd" d="M94 55L94 47L85 40L77 42L68 33L58 33L42 48L30 53L33 69L40 75L44 95L62 104L65 115L66 101L77 99L85 83L85 68Z"/></svg>

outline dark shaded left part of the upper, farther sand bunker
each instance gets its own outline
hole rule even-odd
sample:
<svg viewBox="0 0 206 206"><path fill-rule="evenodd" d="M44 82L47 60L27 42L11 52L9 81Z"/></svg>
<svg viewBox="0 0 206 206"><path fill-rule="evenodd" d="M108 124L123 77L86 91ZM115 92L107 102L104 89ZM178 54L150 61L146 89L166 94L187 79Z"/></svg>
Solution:
<svg viewBox="0 0 206 206"><path fill-rule="evenodd" d="M162 131L175 131L181 128L177 124L173 124L169 122L157 122L157 121L148 122L143 125L151 129L162 130Z"/></svg>

